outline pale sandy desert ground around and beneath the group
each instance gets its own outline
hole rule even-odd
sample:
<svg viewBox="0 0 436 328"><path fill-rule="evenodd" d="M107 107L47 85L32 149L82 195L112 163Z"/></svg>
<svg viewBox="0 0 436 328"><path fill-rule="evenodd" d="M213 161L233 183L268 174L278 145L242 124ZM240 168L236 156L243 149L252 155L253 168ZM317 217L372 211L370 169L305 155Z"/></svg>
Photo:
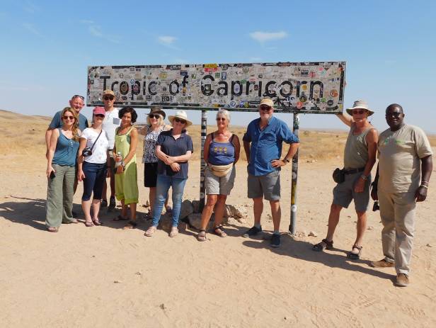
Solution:
<svg viewBox="0 0 436 328"><path fill-rule="evenodd" d="M48 122L0 111L1 327L435 327L434 172L428 199L418 205L411 285L398 288L394 268L369 266L382 258L379 212L369 212L360 260L346 257L355 239L353 205L341 214L335 249L311 250L326 234L331 172L342 161L343 132L301 132L297 235L287 233L288 165L282 171L282 246L272 249L266 202L262 236L241 237L253 224L243 157L227 203L246 206L248 219L230 220L228 237L207 234L200 243L185 223L176 238L165 230L144 237L150 222L142 220L148 198L142 143L137 229L122 230L122 222L113 222L119 210L103 210L101 227L45 231ZM198 200L199 128L190 133L196 148L184 199ZM80 200L81 186L74 210L82 219Z"/></svg>

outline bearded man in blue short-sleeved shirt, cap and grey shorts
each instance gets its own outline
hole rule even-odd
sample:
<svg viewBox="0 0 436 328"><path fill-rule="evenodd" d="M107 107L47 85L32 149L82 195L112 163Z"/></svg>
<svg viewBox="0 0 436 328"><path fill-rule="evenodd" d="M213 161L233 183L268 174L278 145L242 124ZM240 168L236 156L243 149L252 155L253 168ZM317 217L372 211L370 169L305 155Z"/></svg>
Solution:
<svg viewBox="0 0 436 328"><path fill-rule="evenodd" d="M243 135L243 149L248 161L248 198L253 198L254 226L243 237L252 237L262 231L260 217L263 198L270 201L274 232L272 247L280 246L280 167L291 162L299 146L298 138L287 124L275 118L274 103L263 98L259 105L260 118L251 121ZM290 144L284 159L282 142ZM250 145L251 144L251 145Z"/></svg>

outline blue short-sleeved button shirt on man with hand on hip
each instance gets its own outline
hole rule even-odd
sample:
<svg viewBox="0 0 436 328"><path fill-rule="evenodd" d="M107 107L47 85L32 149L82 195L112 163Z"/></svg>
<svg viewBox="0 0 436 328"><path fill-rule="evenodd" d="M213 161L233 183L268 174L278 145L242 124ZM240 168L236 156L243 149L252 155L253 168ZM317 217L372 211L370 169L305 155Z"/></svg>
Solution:
<svg viewBox="0 0 436 328"><path fill-rule="evenodd" d="M274 116L263 130L260 130L259 123L260 118L252 120L242 138L243 141L251 142L248 173L253 176L265 176L272 171L280 170L280 167L278 169L272 167L271 161L280 159L282 143L299 142L287 124Z"/></svg>

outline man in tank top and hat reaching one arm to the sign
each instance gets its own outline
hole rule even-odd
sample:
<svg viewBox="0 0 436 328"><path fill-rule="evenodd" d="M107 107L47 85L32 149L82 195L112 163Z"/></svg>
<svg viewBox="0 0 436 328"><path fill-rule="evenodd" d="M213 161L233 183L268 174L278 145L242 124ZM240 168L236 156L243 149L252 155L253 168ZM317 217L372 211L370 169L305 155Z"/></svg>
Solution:
<svg viewBox="0 0 436 328"><path fill-rule="evenodd" d="M347 113L338 114L338 118L350 127L344 149L343 181L337 181L338 184L333 188L327 236L315 244L313 250L333 249L333 234L339 222L340 210L348 208L354 200L357 236L347 256L349 259L360 259L363 234L367 227L371 170L376 160L378 134L368 121L368 116L374 111L369 109L365 101L355 101L352 108L347 108Z"/></svg>

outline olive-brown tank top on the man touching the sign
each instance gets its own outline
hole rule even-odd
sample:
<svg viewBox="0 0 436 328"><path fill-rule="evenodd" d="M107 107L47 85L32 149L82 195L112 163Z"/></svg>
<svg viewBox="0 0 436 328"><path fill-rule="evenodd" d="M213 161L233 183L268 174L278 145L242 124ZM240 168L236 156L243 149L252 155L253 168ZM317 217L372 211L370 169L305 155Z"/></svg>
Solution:
<svg viewBox="0 0 436 328"><path fill-rule="evenodd" d="M353 123L350 132L348 133L347 143L344 149L344 168L345 169L360 169L365 167L368 162L368 145L367 134L373 127L360 133L353 135L356 125Z"/></svg>

